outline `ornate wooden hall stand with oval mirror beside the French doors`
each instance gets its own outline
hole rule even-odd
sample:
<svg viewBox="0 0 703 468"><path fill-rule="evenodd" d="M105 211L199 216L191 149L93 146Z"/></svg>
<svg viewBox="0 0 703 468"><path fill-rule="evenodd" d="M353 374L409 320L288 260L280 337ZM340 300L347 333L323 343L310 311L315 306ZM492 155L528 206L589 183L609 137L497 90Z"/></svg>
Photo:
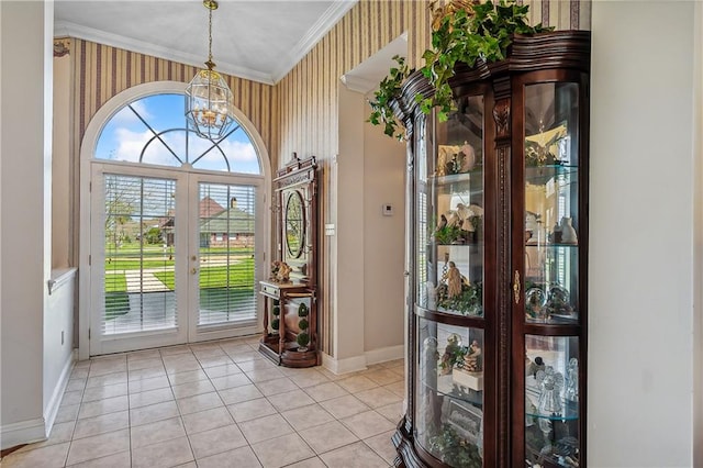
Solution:
<svg viewBox="0 0 703 468"><path fill-rule="evenodd" d="M274 180L277 258L290 278L259 281L264 336L259 350L288 367L320 364L317 350L317 165L315 157L293 160ZM303 304L303 305L301 305ZM305 310L304 315L300 312ZM308 326L301 326L308 325ZM308 335L308 344L301 345Z"/></svg>

